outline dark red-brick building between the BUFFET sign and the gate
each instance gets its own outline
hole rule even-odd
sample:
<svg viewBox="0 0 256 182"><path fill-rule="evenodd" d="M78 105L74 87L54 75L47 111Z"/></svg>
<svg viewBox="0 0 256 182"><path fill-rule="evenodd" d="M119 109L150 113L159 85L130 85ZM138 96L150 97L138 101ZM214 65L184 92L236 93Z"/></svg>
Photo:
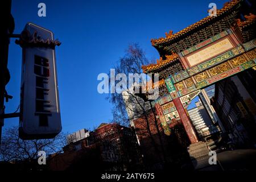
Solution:
<svg viewBox="0 0 256 182"><path fill-rule="evenodd" d="M102 123L89 136L64 147L63 154L52 155L53 170L130 170L142 166L133 129L116 123Z"/></svg>

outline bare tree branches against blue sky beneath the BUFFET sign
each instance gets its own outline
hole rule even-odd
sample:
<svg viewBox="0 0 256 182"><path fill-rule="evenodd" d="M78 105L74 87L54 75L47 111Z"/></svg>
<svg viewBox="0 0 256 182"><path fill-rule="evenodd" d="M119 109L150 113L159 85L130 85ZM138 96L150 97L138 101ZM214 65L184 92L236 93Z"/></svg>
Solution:
<svg viewBox="0 0 256 182"><path fill-rule="evenodd" d="M53 139L22 140L19 138L18 127L10 127L3 133L0 160L30 162L38 158L39 151L45 151L46 155L50 155L61 152L66 144L67 140L63 133Z"/></svg>

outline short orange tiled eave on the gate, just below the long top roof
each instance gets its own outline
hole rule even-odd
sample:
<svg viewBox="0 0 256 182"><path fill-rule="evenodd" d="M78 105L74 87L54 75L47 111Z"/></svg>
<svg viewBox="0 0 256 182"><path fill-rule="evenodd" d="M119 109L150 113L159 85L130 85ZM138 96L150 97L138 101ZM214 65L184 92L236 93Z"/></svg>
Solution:
<svg viewBox="0 0 256 182"><path fill-rule="evenodd" d="M163 68L166 65L172 63L172 61L177 60L178 58L179 56L177 55L177 53L173 53L172 55L166 55L166 60L163 60L162 57L160 57L159 60L156 60L156 64L143 65L142 70L144 73L148 73L150 71Z"/></svg>

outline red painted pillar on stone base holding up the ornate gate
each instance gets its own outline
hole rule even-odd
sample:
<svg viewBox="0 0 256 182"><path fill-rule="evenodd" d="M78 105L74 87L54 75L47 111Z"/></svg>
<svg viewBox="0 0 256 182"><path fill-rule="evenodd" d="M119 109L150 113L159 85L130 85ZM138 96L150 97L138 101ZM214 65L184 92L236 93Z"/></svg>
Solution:
<svg viewBox="0 0 256 182"><path fill-rule="evenodd" d="M185 128L185 131L188 135L188 138L189 138L191 144L198 142L195 130L193 129L193 126L192 126L192 124L191 124L191 122L190 122L190 120L189 120L189 118L188 118L188 116L185 112L185 109L184 109L183 105L180 102L180 98L177 97L173 101L174 101L174 105L177 109L177 112L180 115L180 120L181 120L181 122L182 122L182 124Z"/></svg>

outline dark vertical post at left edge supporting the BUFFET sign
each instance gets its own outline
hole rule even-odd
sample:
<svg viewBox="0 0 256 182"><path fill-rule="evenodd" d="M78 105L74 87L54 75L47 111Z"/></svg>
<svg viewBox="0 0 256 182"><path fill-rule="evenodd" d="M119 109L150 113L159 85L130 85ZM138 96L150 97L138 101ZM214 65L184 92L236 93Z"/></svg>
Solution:
<svg viewBox="0 0 256 182"><path fill-rule="evenodd" d="M5 113L5 85L9 81L7 78L8 52L9 52L9 34L13 33L14 21L11 16L11 0L5 1L0 8L3 22L0 28L0 114ZM0 119L0 147L2 138L3 118Z"/></svg>

